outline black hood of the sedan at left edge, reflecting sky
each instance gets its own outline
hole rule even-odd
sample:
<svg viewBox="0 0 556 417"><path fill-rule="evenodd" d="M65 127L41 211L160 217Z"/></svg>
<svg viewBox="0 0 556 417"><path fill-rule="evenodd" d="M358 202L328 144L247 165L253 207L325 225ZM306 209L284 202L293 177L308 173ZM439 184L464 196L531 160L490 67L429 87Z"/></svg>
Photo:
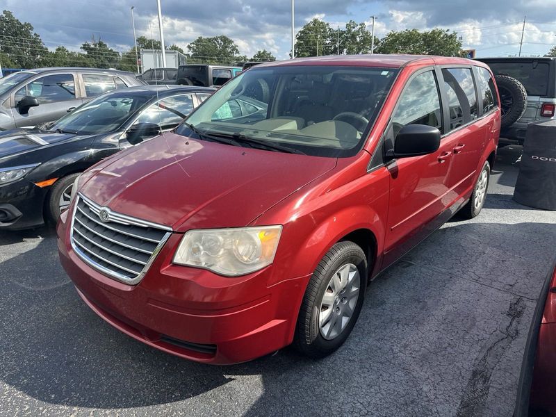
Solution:
<svg viewBox="0 0 556 417"><path fill-rule="evenodd" d="M3 131L0 132L0 158L20 154L45 145L53 145L70 138L76 138L76 135L40 131L38 129Z"/></svg>

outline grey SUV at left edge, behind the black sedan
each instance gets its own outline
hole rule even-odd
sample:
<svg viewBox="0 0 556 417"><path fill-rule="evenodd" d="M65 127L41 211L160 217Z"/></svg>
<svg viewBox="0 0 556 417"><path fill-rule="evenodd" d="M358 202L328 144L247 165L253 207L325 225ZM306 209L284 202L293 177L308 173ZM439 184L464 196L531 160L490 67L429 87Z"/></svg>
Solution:
<svg viewBox="0 0 556 417"><path fill-rule="evenodd" d="M38 68L0 79L0 130L54 122L117 88L144 85L131 72L94 68Z"/></svg>

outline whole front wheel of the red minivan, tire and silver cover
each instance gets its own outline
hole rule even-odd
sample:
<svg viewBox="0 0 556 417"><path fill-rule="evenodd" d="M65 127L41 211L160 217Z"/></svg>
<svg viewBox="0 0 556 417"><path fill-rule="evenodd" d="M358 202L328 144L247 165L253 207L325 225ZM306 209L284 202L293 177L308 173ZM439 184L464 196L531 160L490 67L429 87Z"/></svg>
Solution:
<svg viewBox="0 0 556 417"><path fill-rule="evenodd" d="M295 328L297 350L320 358L345 342L361 311L367 270L365 253L353 242L338 242L327 252L305 291Z"/></svg>

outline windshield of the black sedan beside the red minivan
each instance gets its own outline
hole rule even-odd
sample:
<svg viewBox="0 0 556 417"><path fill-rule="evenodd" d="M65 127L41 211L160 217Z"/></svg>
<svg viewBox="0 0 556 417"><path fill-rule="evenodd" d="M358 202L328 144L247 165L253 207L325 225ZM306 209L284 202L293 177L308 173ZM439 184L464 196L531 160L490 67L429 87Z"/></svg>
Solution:
<svg viewBox="0 0 556 417"><path fill-rule="evenodd" d="M48 130L79 135L115 131L150 99L151 94L125 90L101 95L48 126Z"/></svg>

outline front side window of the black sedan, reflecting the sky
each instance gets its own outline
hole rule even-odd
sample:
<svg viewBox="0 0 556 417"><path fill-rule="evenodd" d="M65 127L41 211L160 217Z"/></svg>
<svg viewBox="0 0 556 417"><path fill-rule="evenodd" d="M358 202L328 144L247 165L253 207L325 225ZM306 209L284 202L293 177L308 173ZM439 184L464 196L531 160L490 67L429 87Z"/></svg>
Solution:
<svg viewBox="0 0 556 417"><path fill-rule="evenodd" d="M167 97L152 104L138 117L136 123L156 123L161 129L177 126L193 110L193 97L181 95Z"/></svg>

